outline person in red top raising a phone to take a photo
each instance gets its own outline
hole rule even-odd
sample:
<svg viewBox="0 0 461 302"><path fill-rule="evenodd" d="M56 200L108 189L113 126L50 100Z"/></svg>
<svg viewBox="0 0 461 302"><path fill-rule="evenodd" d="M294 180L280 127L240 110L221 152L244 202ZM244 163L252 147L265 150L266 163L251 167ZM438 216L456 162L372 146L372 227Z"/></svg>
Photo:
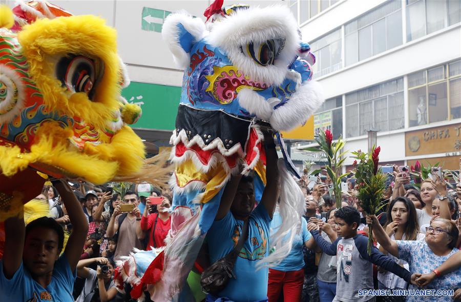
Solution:
<svg viewBox="0 0 461 302"><path fill-rule="evenodd" d="M141 224L139 225L139 228L142 231L149 231L149 240L147 242L146 251L149 251L152 248L165 246L166 235L171 229L170 200L163 196L163 201L158 207L158 213L149 214L150 207L151 201L147 200L144 212L142 213Z"/></svg>

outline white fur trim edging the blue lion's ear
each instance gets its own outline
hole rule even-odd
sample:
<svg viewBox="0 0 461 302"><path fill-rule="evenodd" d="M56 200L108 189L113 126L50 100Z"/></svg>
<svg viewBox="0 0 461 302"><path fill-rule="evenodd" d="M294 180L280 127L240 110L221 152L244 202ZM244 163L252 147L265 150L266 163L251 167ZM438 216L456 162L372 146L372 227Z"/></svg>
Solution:
<svg viewBox="0 0 461 302"><path fill-rule="evenodd" d="M192 18L190 14L185 11L170 14L166 17L162 26L162 37L171 52L176 65L185 69L190 64L190 54L182 49L179 44L179 29L178 24L192 34L195 42L201 40L207 33L205 24L200 18Z"/></svg>

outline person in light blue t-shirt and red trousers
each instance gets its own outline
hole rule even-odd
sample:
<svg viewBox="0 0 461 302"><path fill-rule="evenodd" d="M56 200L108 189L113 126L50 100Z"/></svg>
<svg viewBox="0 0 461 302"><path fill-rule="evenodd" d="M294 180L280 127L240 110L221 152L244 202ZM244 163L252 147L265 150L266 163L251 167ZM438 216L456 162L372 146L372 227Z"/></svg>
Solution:
<svg viewBox="0 0 461 302"><path fill-rule="evenodd" d="M279 212L274 214L271 223L271 233L277 232L282 225L282 217ZM284 240L288 240L288 233ZM269 282L267 297L269 302L277 302L281 293L284 301L299 301L304 283L304 259L303 246L313 249L315 241L307 230L307 222L301 217L297 233L291 246L288 256L277 266L269 268Z"/></svg>

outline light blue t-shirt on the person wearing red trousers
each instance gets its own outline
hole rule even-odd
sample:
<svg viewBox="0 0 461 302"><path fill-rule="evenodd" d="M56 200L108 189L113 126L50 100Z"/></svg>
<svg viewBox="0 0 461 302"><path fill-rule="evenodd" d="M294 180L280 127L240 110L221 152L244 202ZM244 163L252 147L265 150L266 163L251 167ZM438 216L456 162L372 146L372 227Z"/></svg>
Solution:
<svg viewBox="0 0 461 302"><path fill-rule="evenodd" d="M271 232L275 233L282 225L282 217L280 216L279 212L274 214L274 219L272 220ZM286 234L283 240L287 240L290 234ZM271 267L271 269L275 269L282 272L292 272L298 271L304 267L304 258L303 258L303 246L304 243L310 239L312 235L307 230L307 222L304 217L301 217L301 228L299 232L295 235L293 240L293 245L291 246L291 251L288 256L282 260L280 264L277 266Z"/></svg>

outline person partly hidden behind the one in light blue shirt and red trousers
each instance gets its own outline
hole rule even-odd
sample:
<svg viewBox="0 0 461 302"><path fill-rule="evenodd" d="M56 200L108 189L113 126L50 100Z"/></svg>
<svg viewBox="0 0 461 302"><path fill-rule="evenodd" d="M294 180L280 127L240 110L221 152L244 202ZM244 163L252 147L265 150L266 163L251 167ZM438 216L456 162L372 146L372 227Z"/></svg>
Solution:
<svg viewBox="0 0 461 302"><path fill-rule="evenodd" d="M316 185L317 189L321 188L321 185ZM316 189L314 186L314 189ZM317 191L318 192L318 191ZM318 196L318 195L317 195ZM322 199L323 200L323 199ZM306 211L304 218L307 222L311 218L319 218L317 216L318 203L314 196L309 195L306 198ZM316 220L317 221L317 220ZM319 290L317 287L317 265L316 265L316 252L312 249L303 247L303 259L304 259L304 283L301 294L301 300L303 302L317 302L320 301Z"/></svg>

